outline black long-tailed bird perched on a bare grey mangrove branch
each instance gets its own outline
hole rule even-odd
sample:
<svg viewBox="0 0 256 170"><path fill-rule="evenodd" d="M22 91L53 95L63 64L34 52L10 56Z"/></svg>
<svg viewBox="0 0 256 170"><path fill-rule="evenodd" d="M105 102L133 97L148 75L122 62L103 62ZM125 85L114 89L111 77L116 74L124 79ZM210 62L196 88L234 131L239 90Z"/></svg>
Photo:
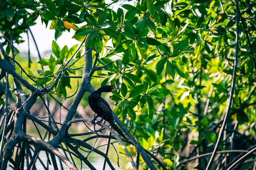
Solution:
<svg viewBox="0 0 256 170"><path fill-rule="evenodd" d="M88 96L90 108L97 114L93 118L92 122L95 124L97 117L101 117L102 119L99 122L97 122L98 125L100 125L100 122L102 122L103 119L108 121L113 130L116 130L116 132L119 133L119 135L121 135L125 140L127 140L122 131L116 126L113 120L112 110L108 105L108 102L106 102L106 100L104 100L101 97L102 92L111 92L115 90L121 90L121 88L116 88L113 85L105 85L99 88L98 90L93 91Z"/></svg>

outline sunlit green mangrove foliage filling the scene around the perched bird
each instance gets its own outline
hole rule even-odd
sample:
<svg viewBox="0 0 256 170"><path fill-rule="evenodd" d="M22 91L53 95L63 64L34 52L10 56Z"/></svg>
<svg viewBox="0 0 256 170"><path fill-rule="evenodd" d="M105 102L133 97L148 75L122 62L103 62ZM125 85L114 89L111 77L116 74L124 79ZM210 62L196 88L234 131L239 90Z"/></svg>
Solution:
<svg viewBox="0 0 256 170"><path fill-rule="evenodd" d="M30 78L51 85L55 73L90 34L86 45L94 49L94 59L96 52L99 53L97 65L114 61L105 70L93 74L93 88L107 84L122 88L119 93L113 92L104 98L109 97L107 101L114 105L113 111L125 125L140 127L131 130L138 142L154 153L167 169L190 169L196 163L199 163L196 168L204 169L208 157L192 161L192 164L184 160L211 153L218 138L233 74L235 1L138 0L134 1L135 5L128 3L114 9L117 2L6 0L0 6L0 38L6 53L9 56L17 54L15 59L32 76ZM247 150L256 142L254 6L256 4L250 0L239 0L238 70L233 105L220 150ZM28 54L19 54L15 46L25 41L20 34L28 32L40 17L42 24L55 30L55 40L63 31L76 30L73 38L78 44L61 49L52 41L52 54L40 60L32 58L28 64ZM80 85L83 47L72 59L72 63L78 61L52 89L57 89L58 99L65 105L70 105L73 97L67 97ZM17 66L16 71L20 73ZM23 78L37 85L26 75ZM78 113L92 118L88 95L85 94L80 103L84 110L78 109ZM4 105L3 99L1 101ZM64 116L62 112L60 121ZM129 149L132 156L136 156L135 147L129 146ZM122 149L119 148L119 152L123 153ZM214 166L224 168L238 153L226 156L225 164L223 155L218 156ZM141 169L147 169L142 159L140 164Z"/></svg>

